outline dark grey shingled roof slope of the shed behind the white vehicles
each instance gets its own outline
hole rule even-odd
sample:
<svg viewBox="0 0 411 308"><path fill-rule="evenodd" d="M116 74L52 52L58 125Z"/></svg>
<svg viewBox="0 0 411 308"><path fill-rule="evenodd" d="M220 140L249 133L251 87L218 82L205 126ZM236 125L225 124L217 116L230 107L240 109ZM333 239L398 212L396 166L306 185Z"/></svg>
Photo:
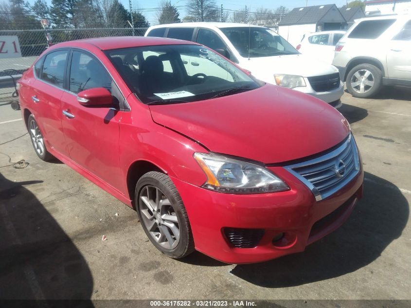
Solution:
<svg viewBox="0 0 411 308"><path fill-rule="evenodd" d="M335 4L297 7L289 12L279 26L304 25L317 23Z"/></svg>

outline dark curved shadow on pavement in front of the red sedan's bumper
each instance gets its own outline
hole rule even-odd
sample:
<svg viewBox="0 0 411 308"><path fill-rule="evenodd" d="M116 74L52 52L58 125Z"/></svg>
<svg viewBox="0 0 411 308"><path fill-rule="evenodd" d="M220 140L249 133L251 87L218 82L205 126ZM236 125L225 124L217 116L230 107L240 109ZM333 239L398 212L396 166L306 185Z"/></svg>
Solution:
<svg viewBox="0 0 411 308"><path fill-rule="evenodd" d="M389 181L365 173L364 197L334 233L300 254L259 264L237 265L231 272L252 284L286 288L354 272L377 259L404 229L409 204Z"/></svg>

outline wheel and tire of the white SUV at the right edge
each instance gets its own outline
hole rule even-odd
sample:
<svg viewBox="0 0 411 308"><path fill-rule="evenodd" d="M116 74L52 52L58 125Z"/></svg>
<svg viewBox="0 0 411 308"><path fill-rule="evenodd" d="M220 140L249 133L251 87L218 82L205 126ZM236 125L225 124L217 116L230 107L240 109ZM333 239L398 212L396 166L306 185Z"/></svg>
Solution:
<svg viewBox="0 0 411 308"><path fill-rule="evenodd" d="M367 98L381 89L382 72L372 64L360 64L348 72L345 81L351 95Z"/></svg>

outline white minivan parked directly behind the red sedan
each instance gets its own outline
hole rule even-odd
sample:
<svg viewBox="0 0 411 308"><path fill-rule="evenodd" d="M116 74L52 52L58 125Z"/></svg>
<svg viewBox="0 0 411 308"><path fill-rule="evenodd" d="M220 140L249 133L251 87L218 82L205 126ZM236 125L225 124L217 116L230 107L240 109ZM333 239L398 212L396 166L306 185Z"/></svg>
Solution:
<svg viewBox="0 0 411 308"><path fill-rule="evenodd" d="M194 41L226 56L256 78L301 91L338 108L343 83L337 68L300 54L283 37L261 26L226 22L192 22L157 25L144 36ZM187 72L199 61L183 59Z"/></svg>

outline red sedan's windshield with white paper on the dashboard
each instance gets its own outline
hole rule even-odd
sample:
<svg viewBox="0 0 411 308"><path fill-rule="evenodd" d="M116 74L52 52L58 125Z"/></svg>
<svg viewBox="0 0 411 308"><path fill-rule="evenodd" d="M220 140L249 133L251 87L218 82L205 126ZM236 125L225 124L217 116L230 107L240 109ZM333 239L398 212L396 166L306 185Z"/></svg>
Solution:
<svg viewBox="0 0 411 308"><path fill-rule="evenodd" d="M132 47L106 54L130 90L145 104L193 102L261 85L203 46Z"/></svg>

